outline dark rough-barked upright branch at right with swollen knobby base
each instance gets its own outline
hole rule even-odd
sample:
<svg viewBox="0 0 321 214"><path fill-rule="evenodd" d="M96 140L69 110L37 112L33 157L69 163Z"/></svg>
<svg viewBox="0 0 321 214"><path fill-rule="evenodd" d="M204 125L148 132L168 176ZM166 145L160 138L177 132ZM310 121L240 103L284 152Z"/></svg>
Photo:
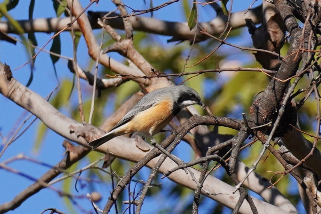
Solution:
<svg viewBox="0 0 321 214"><path fill-rule="evenodd" d="M302 56L299 51L300 41L303 38L301 38L301 29L292 14L291 7L286 4L286 1L276 2L276 8L280 12L282 19L285 21L288 31L291 33L290 47L287 52L287 57L285 57L275 75L279 80L286 80L294 76L298 70ZM282 4L282 6L280 4ZM252 124L253 126L266 124L276 118L277 112L275 109L279 108L288 86L288 82L282 82L279 80L274 78L271 79L262 95L258 96L258 98L253 102L250 109L251 121L254 122L254 124ZM292 113L290 110L287 112Z"/></svg>

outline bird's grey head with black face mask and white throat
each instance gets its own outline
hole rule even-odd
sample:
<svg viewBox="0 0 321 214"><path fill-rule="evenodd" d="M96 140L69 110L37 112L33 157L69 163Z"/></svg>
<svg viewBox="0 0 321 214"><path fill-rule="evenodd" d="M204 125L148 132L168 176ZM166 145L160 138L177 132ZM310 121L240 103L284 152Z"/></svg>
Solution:
<svg viewBox="0 0 321 214"><path fill-rule="evenodd" d="M174 109L183 109L191 105L205 106L200 95L191 87L185 85L173 86Z"/></svg>

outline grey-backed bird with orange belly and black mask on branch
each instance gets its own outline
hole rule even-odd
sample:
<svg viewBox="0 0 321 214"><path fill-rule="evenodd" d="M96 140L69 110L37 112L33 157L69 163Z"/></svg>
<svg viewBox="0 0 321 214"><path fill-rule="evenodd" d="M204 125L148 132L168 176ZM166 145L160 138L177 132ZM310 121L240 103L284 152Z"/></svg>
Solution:
<svg viewBox="0 0 321 214"><path fill-rule="evenodd" d="M88 145L94 150L114 137L135 132L152 137L180 110L195 104L206 107L197 91L189 86L178 85L153 90L143 96L108 133Z"/></svg>

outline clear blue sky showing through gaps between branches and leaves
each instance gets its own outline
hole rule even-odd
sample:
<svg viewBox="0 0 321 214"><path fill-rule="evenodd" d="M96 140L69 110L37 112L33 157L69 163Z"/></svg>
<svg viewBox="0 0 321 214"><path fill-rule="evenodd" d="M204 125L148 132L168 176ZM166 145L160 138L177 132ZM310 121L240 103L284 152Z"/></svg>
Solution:
<svg viewBox="0 0 321 214"><path fill-rule="evenodd" d="M82 0L82 5L85 6L88 4L88 0ZM131 7L135 9L146 9L149 7L149 0L146 0L147 5L144 5L143 0L136 0L132 1ZM163 1L153 1L154 5L161 4ZM234 1L234 10L239 11L246 9L248 5L252 1L247 1L247 4L244 4L244 1ZM20 1L18 6L10 11L10 15L12 15L15 19L28 19L28 7L29 7L29 1ZM98 6L96 4L91 5L89 10L92 11L109 11L113 10L115 7L110 1L100 1ZM159 18L162 20L170 20L170 21L186 21L185 15L183 11L181 11L181 2L174 3L169 7L166 7L164 9L161 9L159 11L154 12L154 17ZM41 0L35 2L35 9L34 9L34 18L49 18L49 17L55 17L55 11L52 7L52 1L51 0ZM201 13L200 15L200 21L208 21L215 17L215 13L210 6L207 6L204 8L204 13ZM95 32L98 33L98 30ZM42 47L48 39L53 34L46 34L46 33L36 33L36 38L38 41L38 46ZM246 35L245 37L249 38L249 35ZM159 41L162 42L163 46L172 46L175 44L167 44L166 40L169 39L169 37L165 36L157 36ZM61 34L61 40L62 40L62 55L73 57L72 53L72 47L71 47L71 37L69 32L64 32ZM251 44L249 44L251 45ZM51 43L45 48L47 50L50 49ZM80 41L80 44L78 46L78 52L77 52L77 58L78 63L83 67L87 68L87 64L89 63L89 57L87 54L87 47L84 43L83 38ZM0 61L2 63L8 64L12 71L13 69L19 67L20 65L27 62L28 56L26 55L24 51L24 47L18 43L16 46L9 44L7 42L0 42ZM57 69L57 75L58 78L61 80L63 78L69 78L72 79L73 75L69 72L67 69L67 61L64 59L60 59L56 63L56 69ZM22 84L26 84L28 82L30 76L30 68L29 66L24 66L16 71L13 71L13 77L16 78L18 81L20 81ZM58 82L56 81L56 77L54 74L53 66L50 60L50 57L46 53L40 53L39 56L37 56L36 64L35 64L35 70L34 70L34 79L30 85L30 89L36 91L41 96L45 97L47 96L56 86ZM86 84L84 81L82 84ZM74 93L74 95L76 95ZM0 131L4 135L4 137L10 138L12 135L12 132L15 130L17 126L19 126L22 121L28 116L30 113L26 112L21 107L14 104L11 100L4 98L2 95L0 96L0 104L1 104L1 111L0 111L0 118L2 120L0 121ZM67 112L67 111L66 111ZM32 117L34 118L34 117ZM31 121L31 120L30 120ZM27 122L27 124L30 123L30 121ZM53 131L48 131L44 142L42 143L42 146L38 152L33 152L34 148L34 142L37 135L37 127L39 125L39 121L37 120L34 124L30 126L30 128L12 145L9 146L9 148L4 152L3 156L0 158L0 162L3 162L4 160L7 160L9 158L13 158L21 153L23 153L25 156L34 158L40 161L44 161L46 164L54 165L58 161L60 161L63 158L63 152L64 148L61 146L62 141L64 140L63 137L57 135ZM3 144L1 145L1 148L3 147ZM186 160L189 160L191 158L191 152L188 152L187 154L180 154L180 151L190 151L190 149L186 148L186 145L180 145L181 149L178 149L178 155L179 157L182 157L183 159L186 158ZM183 153L183 152L181 152ZM185 152L184 152L185 153ZM30 161L26 160L17 160L12 163L10 163L8 166L22 172L26 173L34 178L39 178L44 172L48 170L48 167L41 166L39 164L31 163ZM34 169L34 170L32 170ZM20 193L23 189L25 189L28 185L32 184L33 181L30 181L26 179L25 177L21 175L17 175L11 172L8 172L6 170L0 169L0 192L2 193L0 196L0 204L12 200L14 196L18 193ZM143 174L147 174L148 169L143 171ZM164 180L163 186L166 185L173 185L170 181ZM60 188L61 184L54 185L56 188ZM108 190L106 190L108 192ZM88 189L82 189L80 190L80 193L77 193L76 195L85 195L88 192ZM104 198L107 199L106 197ZM207 200L207 199L206 199ZM164 206L168 206L171 208L173 206L172 203L168 202L168 198L163 197L159 198L159 201L162 201L164 203ZM166 202L167 201L167 202ZM173 201L175 199L173 198ZM213 204L215 202L207 200L209 204ZM103 208L104 202L100 203L100 207ZM81 200L82 206L86 210L91 209L91 204L87 199ZM179 206L182 205L182 203L191 203L191 198L187 197L183 202L180 204L177 204L175 209L179 210ZM153 202L147 199L145 201L146 206L146 213L152 213L154 210L153 208ZM66 208L64 200L61 199L61 197L58 196L58 194L50 189L44 189L41 190L39 193L33 195L31 198L26 200L22 205L18 208L16 208L13 211L10 211L8 213L40 213L42 210L54 207L58 210L61 210L63 212L70 213L70 210ZM148 207L148 208L147 208ZM174 209L174 210L175 210ZM202 212L200 213L206 213L206 208L201 207L200 208ZM148 211L147 211L148 210ZM77 212L80 212L77 210ZM228 213L229 210L226 210ZM142 212L145 213L145 212Z"/></svg>

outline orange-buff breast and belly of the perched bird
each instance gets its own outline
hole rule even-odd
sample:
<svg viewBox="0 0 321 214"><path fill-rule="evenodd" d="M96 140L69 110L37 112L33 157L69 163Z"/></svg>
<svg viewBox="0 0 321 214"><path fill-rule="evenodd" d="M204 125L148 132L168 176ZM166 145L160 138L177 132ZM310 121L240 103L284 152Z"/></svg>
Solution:
<svg viewBox="0 0 321 214"><path fill-rule="evenodd" d="M173 103L171 101L162 101L142 111L130 121L130 126L135 130L131 128L126 130L126 133L140 132L153 135L160 132L173 119L172 109Z"/></svg>

